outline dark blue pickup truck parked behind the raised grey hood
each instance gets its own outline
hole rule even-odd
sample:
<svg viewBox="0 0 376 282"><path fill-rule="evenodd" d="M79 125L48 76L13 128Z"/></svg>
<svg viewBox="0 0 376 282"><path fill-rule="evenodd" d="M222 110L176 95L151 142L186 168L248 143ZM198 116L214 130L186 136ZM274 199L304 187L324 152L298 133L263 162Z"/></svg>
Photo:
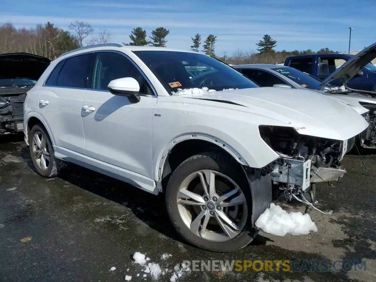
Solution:
<svg viewBox="0 0 376 282"><path fill-rule="evenodd" d="M375 51L376 52L376 51ZM299 55L288 57L284 65L296 68L300 71L310 74L319 80L326 79L337 68L344 64L355 55L351 54L317 54L317 55ZM342 86L340 79L331 81L334 86ZM347 82L347 87L365 91L376 91L376 67L368 63L358 74Z"/></svg>

